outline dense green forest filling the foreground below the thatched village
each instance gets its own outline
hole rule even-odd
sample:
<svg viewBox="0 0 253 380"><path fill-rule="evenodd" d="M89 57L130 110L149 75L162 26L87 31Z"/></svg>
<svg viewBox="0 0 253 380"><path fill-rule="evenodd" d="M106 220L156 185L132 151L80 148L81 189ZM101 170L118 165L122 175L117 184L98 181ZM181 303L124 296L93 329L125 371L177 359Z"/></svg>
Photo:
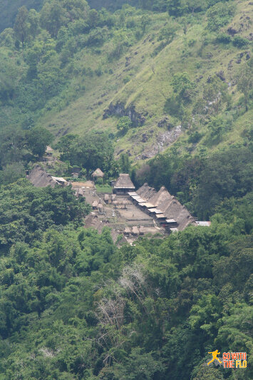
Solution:
<svg viewBox="0 0 253 380"><path fill-rule="evenodd" d="M252 379L252 200L120 249L107 228L78 227L78 202L26 180L1 188L2 378L232 379L205 366L219 347L247 351Z"/></svg>

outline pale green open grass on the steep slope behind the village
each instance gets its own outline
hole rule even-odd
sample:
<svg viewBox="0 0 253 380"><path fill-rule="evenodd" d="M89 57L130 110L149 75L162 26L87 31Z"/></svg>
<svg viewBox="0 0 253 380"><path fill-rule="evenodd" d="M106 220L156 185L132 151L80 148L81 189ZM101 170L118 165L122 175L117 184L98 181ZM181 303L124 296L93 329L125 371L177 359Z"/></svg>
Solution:
<svg viewBox="0 0 253 380"><path fill-rule="evenodd" d="M252 17L252 5L247 1L239 2L234 19L223 30L241 29L239 35L248 37L252 31L248 17ZM61 133L85 133L90 128L115 133L117 115L128 115L130 110L134 110L137 115L132 112L132 117L133 120L135 117L139 119L139 126L130 129L124 137L118 136L117 150L129 150L133 160L150 158L170 145L180 134L180 130L173 127L182 125L182 118L180 115L171 115L167 103L172 95L173 74L184 71L195 83L194 99L202 96L202 88L208 78L221 76L222 81L229 86L228 93L232 95L232 108L235 110L241 96L235 86L235 76L244 60L251 55L247 46L238 48L217 43L216 35L205 29L205 18L196 16L186 34L181 29L181 20L178 20L174 41L161 48L159 36L166 22L167 14L153 14L143 38L133 43L118 61L108 62L106 58L110 43L105 43L98 56L83 52L86 66L96 66L102 75L99 78L83 78L86 86L83 96L60 113L46 113L41 118L43 125L50 127L53 133L58 133L59 130ZM110 107L107 113L109 117L105 119L105 110L110 104L113 107ZM187 107L192 110L192 104ZM249 125L251 118L252 112L249 111L239 115L235 123L231 120L231 128L219 143L226 145L242 142L243 136L240 134L245 125ZM143 122L144 125L140 126ZM204 136L208 132L205 124L200 122L195 127ZM167 127L170 131L167 131ZM182 135L182 141L187 142L188 137ZM207 148L214 147L207 145Z"/></svg>

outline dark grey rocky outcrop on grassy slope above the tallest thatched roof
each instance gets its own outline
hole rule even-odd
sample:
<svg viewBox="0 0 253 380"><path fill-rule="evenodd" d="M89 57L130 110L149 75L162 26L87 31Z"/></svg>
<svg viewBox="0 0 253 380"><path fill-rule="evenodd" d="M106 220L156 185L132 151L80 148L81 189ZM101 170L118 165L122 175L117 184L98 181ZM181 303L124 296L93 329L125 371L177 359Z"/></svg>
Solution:
<svg viewBox="0 0 253 380"><path fill-rule="evenodd" d="M133 125L135 127L138 127L139 125L143 125L145 123L148 112L143 114L138 111L135 111L134 105L125 108L124 103L117 102L115 105L113 103L110 103L110 106L107 109L105 109L103 113L103 119L109 118L112 115L118 115L121 117L128 116L128 118L130 118L130 120L132 121Z"/></svg>

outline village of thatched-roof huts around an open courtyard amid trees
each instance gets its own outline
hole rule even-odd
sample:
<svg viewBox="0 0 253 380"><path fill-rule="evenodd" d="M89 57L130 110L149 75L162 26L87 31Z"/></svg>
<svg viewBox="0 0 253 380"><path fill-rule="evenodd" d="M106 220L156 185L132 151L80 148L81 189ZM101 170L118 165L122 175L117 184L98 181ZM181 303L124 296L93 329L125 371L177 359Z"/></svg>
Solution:
<svg viewBox="0 0 253 380"><path fill-rule="evenodd" d="M53 160L53 149L47 147L43 167L35 165L26 173L29 181L38 188L46 186L71 186L76 197L85 197L92 211L84 220L84 227L93 227L102 232L103 227L111 229L114 242L133 244L143 235L169 235L185 230L188 225L209 226L210 222L199 222L190 215L176 197L165 187L157 192L145 183L141 188L135 185L127 173L120 173L118 179L110 182L110 192L99 192L98 180L103 182L104 173L97 168L91 180L78 182L78 170L72 173L73 180L55 177L46 173L46 165Z"/></svg>

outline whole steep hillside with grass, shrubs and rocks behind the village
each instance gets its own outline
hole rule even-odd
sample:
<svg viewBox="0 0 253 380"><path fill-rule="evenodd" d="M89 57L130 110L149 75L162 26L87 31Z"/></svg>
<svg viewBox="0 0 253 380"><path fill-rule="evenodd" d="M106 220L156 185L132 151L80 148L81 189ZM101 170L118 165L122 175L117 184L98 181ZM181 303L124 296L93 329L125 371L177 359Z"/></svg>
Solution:
<svg viewBox="0 0 253 380"><path fill-rule="evenodd" d="M216 26L210 25L214 17L208 16L210 9L207 14L171 19L167 12L143 13L133 8L106 14L105 21L89 32L88 43L82 42L86 35L82 37L80 32L64 42L66 33L59 32L56 43L48 40L48 46L51 43L50 48L58 53L54 63L48 61L43 68L43 61L39 63L41 81L56 81L53 90L50 86L41 88L32 76L31 45L15 51L11 31L4 31L1 72L7 72L6 86L14 89L14 95L3 105L1 125L21 122L26 128L27 119L33 119L33 124L46 126L57 137L105 130L114 136L116 153L128 152L133 162L153 157L179 136L182 149L188 149L192 132L199 134L199 141L190 145L192 152L243 143L252 111L242 111L236 78L251 56L253 7L250 1L233 1L229 6L232 11L227 19L217 21L223 25L218 33ZM54 71L61 68L61 78L44 77L52 65ZM173 92L172 80L177 73L186 73L183 81L190 83L185 99L180 99L175 86ZM14 76L18 78L15 84ZM215 100L215 94L199 103L203 88L212 92L208 83L214 78L219 86L227 86L223 91L229 103L224 101L209 112L208 103ZM38 96L40 91L43 93ZM125 135L116 128L123 115L130 115L134 127ZM208 122L210 116L217 115L225 115L227 126L222 135L212 139Z"/></svg>

